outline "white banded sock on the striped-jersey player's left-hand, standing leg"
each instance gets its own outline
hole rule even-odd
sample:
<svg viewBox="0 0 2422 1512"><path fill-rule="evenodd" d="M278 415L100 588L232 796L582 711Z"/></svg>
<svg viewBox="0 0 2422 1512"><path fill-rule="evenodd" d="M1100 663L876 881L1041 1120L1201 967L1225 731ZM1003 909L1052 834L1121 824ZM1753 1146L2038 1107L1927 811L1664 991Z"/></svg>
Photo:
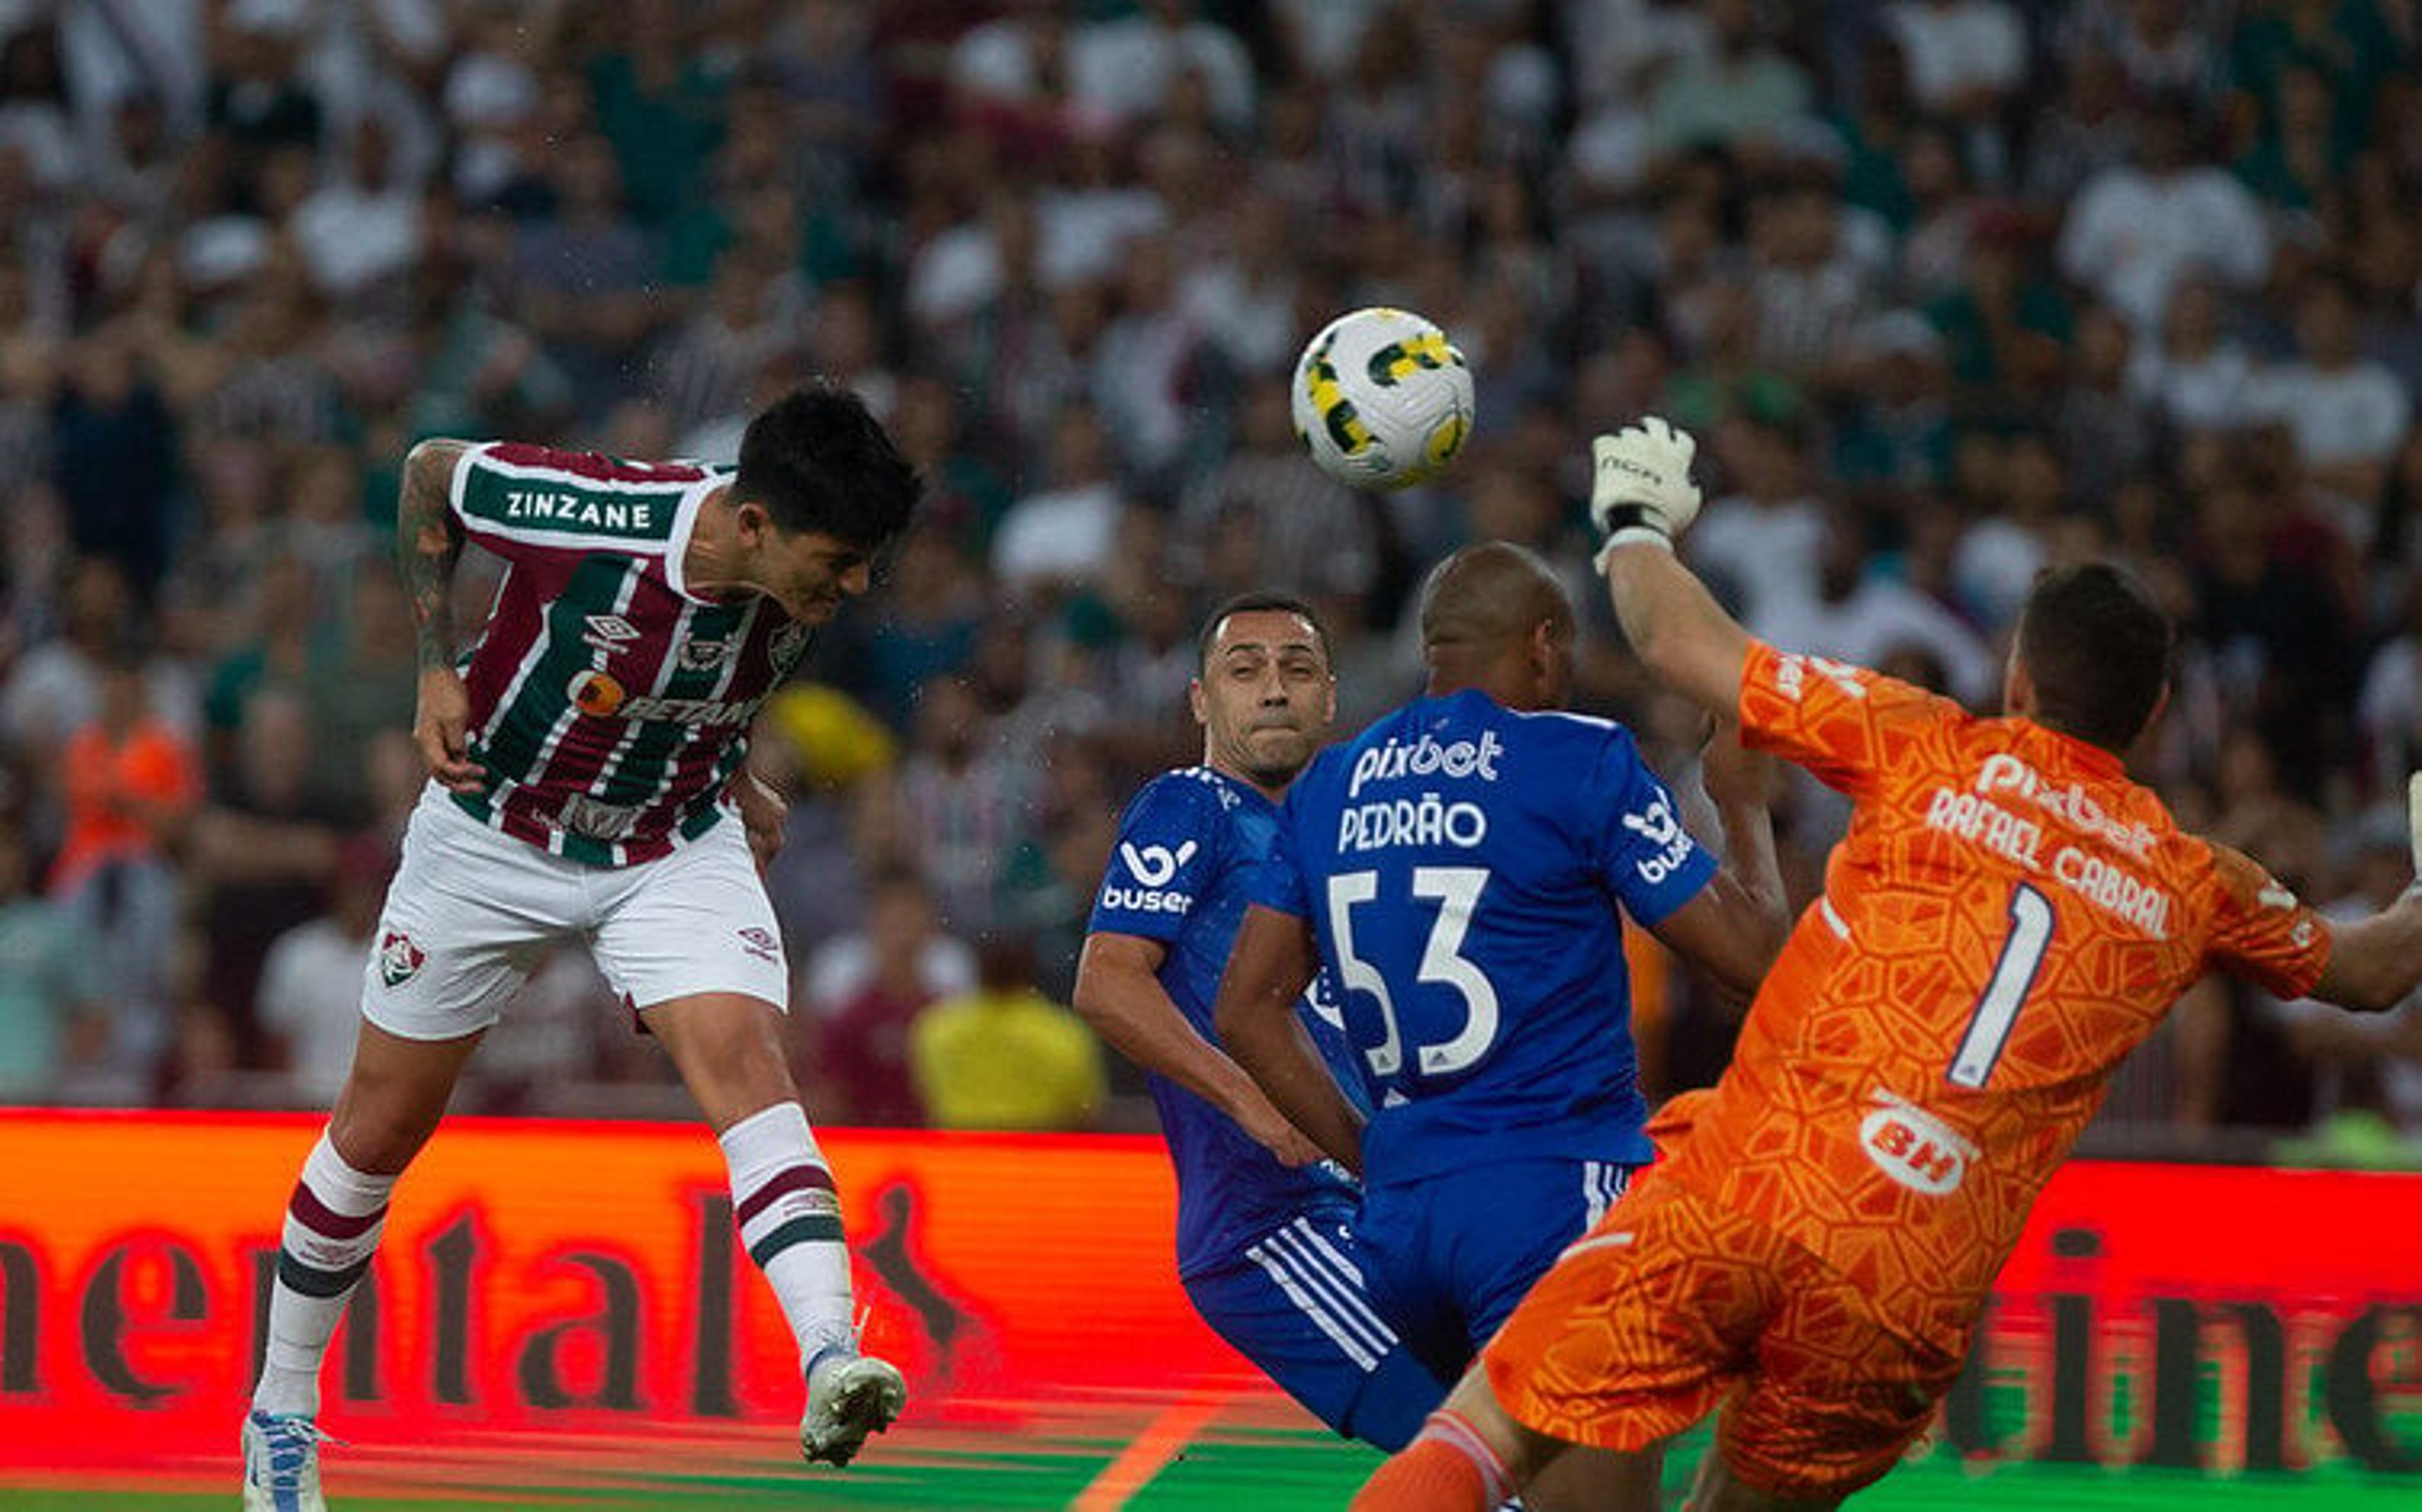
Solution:
<svg viewBox="0 0 2422 1512"><path fill-rule="evenodd" d="M320 1132L286 1202L279 1279L269 1292L269 1354L252 1388L257 1413L320 1413L320 1362L378 1253L390 1192L392 1175L354 1170Z"/></svg>

